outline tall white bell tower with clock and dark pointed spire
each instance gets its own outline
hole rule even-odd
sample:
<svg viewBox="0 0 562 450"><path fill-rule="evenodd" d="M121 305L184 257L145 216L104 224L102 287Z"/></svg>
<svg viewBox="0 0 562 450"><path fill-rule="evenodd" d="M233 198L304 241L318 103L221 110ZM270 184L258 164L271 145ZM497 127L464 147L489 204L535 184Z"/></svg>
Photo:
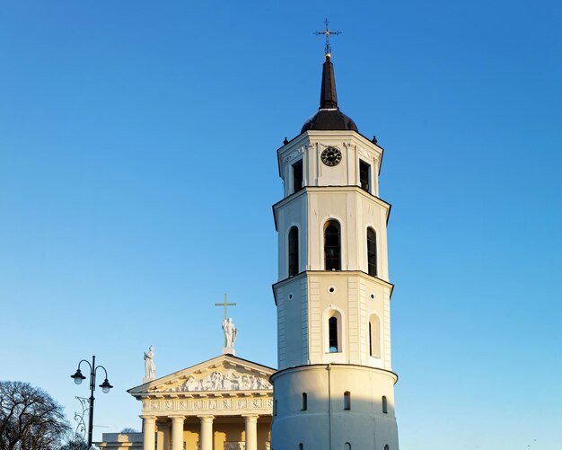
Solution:
<svg viewBox="0 0 562 450"><path fill-rule="evenodd" d="M273 450L399 448L382 153L338 109L327 53L319 111L277 150Z"/></svg>

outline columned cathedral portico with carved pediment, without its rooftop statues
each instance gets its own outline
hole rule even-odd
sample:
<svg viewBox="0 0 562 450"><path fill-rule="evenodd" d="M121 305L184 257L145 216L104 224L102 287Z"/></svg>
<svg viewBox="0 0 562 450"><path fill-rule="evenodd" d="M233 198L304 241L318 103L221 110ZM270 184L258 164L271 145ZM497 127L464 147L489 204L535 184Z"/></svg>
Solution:
<svg viewBox="0 0 562 450"><path fill-rule="evenodd" d="M274 372L221 355L130 389L143 402L144 450L266 450Z"/></svg>

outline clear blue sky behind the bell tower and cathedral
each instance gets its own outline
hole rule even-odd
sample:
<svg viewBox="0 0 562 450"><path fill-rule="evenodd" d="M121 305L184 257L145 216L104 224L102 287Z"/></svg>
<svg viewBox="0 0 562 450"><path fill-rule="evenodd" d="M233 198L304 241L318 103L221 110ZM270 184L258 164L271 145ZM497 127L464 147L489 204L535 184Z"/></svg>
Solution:
<svg viewBox="0 0 562 450"><path fill-rule="evenodd" d="M276 149L340 107L385 148L402 450L562 448L562 6L553 1L0 1L0 379L95 354L95 437L157 375L275 366ZM102 380L101 380L102 381ZM107 428L101 428L107 427ZM536 440L535 440L536 439Z"/></svg>

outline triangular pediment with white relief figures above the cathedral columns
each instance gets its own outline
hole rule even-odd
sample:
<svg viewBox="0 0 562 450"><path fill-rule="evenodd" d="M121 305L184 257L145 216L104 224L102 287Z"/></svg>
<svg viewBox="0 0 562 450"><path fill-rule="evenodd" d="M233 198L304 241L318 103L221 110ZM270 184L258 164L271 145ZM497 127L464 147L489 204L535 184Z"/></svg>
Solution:
<svg viewBox="0 0 562 450"><path fill-rule="evenodd" d="M141 384L127 392L137 398L167 393L190 395L233 391L267 392L272 390L269 376L275 372L271 367L261 366L241 357L221 355Z"/></svg>

